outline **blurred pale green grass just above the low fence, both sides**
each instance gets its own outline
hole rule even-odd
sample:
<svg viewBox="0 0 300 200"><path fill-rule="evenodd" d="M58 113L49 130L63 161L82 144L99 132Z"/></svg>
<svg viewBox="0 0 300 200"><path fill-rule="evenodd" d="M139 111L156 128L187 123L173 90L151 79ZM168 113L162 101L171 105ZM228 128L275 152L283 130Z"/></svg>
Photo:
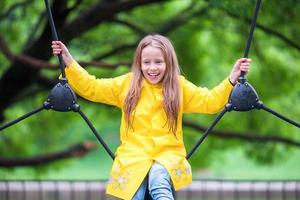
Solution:
<svg viewBox="0 0 300 200"><path fill-rule="evenodd" d="M40 168L17 168L0 170L0 179L49 179L49 180L105 180L112 165L111 158L102 148L83 159L74 159L51 170ZM239 149L224 153L223 160L216 160L207 169L194 170L194 178L208 179L253 179L253 180L299 180L300 151L274 166L260 166L247 159Z"/></svg>

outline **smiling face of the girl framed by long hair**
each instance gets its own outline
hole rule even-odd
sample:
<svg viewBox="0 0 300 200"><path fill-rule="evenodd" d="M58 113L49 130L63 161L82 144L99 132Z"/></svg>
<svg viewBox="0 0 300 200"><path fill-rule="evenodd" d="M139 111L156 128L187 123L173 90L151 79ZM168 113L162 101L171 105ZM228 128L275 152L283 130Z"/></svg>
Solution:
<svg viewBox="0 0 300 200"><path fill-rule="evenodd" d="M151 45L145 47L141 54L142 72L146 80L152 84L162 81L166 71L166 62L162 51Z"/></svg>

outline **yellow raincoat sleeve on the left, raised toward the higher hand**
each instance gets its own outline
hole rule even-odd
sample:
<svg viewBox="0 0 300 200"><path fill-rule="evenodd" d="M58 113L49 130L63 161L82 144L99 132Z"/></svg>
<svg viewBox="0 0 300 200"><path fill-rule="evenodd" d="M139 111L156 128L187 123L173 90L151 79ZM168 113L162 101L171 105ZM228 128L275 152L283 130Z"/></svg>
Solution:
<svg viewBox="0 0 300 200"><path fill-rule="evenodd" d="M68 83L81 97L98 103L121 107L121 93L129 74L115 78L96 78L77 62L65 68Z"/></svg>

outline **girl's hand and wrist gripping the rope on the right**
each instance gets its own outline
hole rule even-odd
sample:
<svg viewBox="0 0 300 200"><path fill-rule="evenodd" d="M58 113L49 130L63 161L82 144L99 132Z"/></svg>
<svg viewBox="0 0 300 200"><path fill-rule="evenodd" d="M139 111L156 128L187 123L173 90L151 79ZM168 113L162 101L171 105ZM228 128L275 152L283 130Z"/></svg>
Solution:
<svg viewBox="0 0 300 200"><path fill-rule="evenodd" d="M249 58L240 58L235 62L229 75L229 80L232 84L235 85L237 83L242 71L245 73L250 71L250 63L251 59Z"/></svg>

